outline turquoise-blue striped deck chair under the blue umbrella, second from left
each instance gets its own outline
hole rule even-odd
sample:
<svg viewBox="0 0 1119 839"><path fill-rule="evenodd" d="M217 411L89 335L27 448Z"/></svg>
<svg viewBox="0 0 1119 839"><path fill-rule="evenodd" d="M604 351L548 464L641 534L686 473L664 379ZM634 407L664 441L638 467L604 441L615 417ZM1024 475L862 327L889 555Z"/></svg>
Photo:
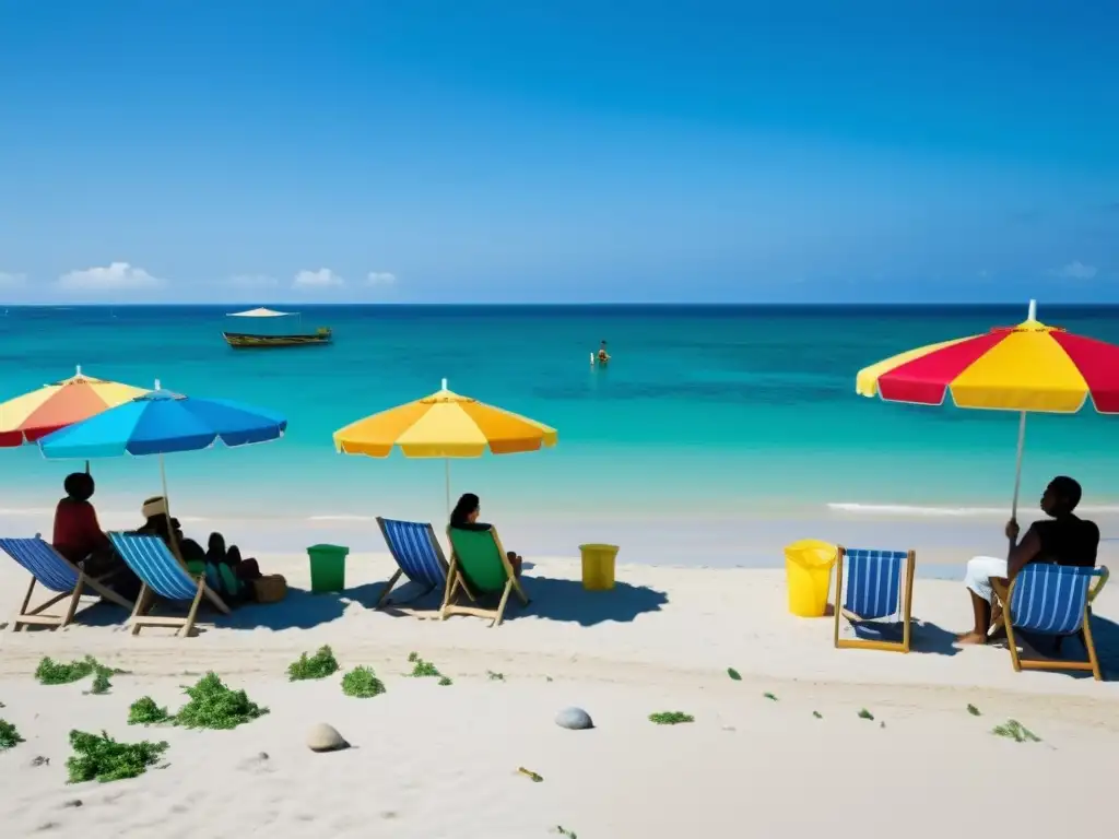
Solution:
<svg viewBox="0 0 1119 839"><path fill-rule="evenodd" d="M112 532L109 538L124 562L140 577L143 586L137 597L132 619L129 621L132 634L140 634L143 626L173 626L176 634L187 638L195 628L198 604L203 595L222 614L229 614L229 607L217 593L206 584L206 575L190 574L182 562L175 556L158 536ZM190 604L185 618L160 618L149 614L156 596L163 600Z"/></svg>

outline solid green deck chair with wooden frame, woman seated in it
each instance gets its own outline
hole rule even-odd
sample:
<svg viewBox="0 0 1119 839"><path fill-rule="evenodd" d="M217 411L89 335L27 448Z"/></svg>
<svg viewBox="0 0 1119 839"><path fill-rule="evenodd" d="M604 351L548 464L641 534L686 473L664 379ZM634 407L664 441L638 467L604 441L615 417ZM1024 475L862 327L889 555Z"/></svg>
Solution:
<svg viewBox="0 0 1119 839"><path fill-rule="evenodd" d="M449 527L446 538L451 543L451 567L446 574L446 593L443 595L440 618L445 621L452 614L472 614L489 618L492 621L490 626L497 626L505 615L509 592L516 592L520 602L528 605L528 596L520 587L520 581L514 576L513 566L496 528L459 530ZM500 592L501 602L497 609L462 606L457 602L459 590L476 597Z"/></svg>

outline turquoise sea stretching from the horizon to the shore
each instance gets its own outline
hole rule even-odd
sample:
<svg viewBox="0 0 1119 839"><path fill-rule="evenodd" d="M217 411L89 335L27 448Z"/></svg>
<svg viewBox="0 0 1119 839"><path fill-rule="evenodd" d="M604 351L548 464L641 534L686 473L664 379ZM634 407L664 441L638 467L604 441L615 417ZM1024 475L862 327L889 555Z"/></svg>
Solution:
<svg viewBox="0 0 1119 839"><path fill-rule="evenodd" d="M276 305L283 309L282 305ZM454 461L455 492L490 517L725 521L876 511L1002 515L1017 417L855 395L856 371L922 343L1017 323L1025 307L304 308L329 347L233 350L237 307L16 308L0 304L0 399L84 373L284 413L288 435L245 450L168 458L190 517L318 522L443 516L443 462L336 454L331 433L451 389L554 425L551 451ZM1119 342L1119 309L1046 308L1046 322ZM590 352L606 339L609 369ZM1032 416L1023 480L1033 508L1070 473L1085 505L1119 509L1119 417ZM0 508L49 509L72 464L0 450ZM94 464L101 507L158 490L151 461Z"/></svg>

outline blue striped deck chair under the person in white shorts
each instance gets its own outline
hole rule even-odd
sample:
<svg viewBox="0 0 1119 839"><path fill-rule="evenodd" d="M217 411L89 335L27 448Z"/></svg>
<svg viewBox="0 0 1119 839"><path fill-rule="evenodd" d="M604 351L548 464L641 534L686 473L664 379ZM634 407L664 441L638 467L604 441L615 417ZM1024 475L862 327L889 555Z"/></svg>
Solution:
<svg viewBox="0 0 1119 839"><path fill-rule="evenodd" d="M1107 584L1108 576L1108 569L1102 566L1085 568L1051 563L1031 563L1018 572L1010 581L1004 610L1006 645L1016 671L1091 670L1098 681L1103 679L1092 641L1091 616L1092 600ZM1088 652L1088 661L1023 660L1018 656L1015 630L1056 638L1079 635Z"/></svg>

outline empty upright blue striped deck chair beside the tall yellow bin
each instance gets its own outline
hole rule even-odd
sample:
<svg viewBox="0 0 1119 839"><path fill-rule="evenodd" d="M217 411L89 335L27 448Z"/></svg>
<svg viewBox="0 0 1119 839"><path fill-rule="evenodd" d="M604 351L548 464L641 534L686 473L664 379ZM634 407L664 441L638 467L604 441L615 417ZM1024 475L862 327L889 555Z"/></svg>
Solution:
<svg viewBox="0 0 1119 839"><path fill-rule="evenodd" d="M844 547L836 554L836 648L909 652L916 554ZM840 619L856 638L839 637Z"/></svg>

